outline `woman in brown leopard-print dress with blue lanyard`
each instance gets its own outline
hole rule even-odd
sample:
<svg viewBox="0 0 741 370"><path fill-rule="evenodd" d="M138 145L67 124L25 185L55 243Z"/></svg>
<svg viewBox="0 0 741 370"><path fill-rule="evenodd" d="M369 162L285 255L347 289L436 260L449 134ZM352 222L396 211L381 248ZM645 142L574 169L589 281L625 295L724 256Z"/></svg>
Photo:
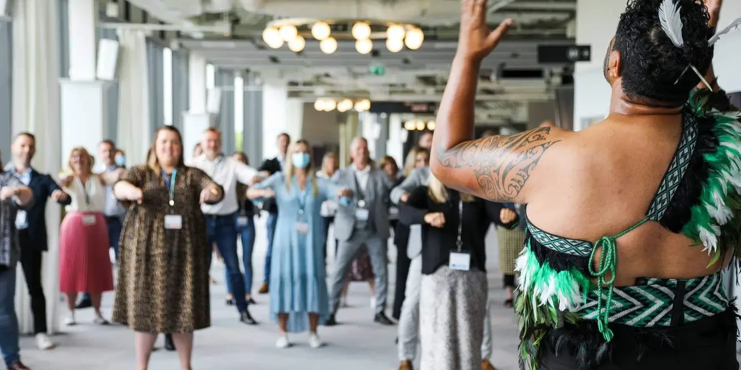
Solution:
<svg viewBox="0 0 741 370"><path fill-rule="evenodd" d="M224 192L202 170L185 166L180 132L160 127L147 164L113 188L127 206L113 320L136 332L136 369L147 369L158 333L173 333L190 370L193 332L210 326L210 248L201 203Z"/></svg>

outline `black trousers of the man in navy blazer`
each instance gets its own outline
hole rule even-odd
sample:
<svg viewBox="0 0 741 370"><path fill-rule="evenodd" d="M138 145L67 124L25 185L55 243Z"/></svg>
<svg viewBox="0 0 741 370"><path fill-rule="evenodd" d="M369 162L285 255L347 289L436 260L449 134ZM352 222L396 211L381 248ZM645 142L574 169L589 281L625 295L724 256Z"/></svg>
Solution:
<svg viewBox="0 0 741 370"><path fill-rule="evenodd" d="M28 294L31 296L31 312L33 312L33 334L46 333L46 297L41 286L41 262L44 252L31 249L28 229L19 230L21 244L21 266L26 278Z"/></svg>

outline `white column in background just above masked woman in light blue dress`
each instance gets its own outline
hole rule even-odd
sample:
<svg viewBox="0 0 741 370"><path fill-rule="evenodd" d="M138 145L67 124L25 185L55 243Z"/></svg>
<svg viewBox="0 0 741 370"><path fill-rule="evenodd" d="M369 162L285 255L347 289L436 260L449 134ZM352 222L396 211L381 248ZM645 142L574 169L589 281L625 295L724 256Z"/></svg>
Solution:
<svg viewBox="0 0 741 370"><path fill-rule="evenodd" d="M292 141L301 138L304 102L288 98L285 81L270 81L262 85L262 156L273 158L278 154L276 137L281 132Z"/></svg>

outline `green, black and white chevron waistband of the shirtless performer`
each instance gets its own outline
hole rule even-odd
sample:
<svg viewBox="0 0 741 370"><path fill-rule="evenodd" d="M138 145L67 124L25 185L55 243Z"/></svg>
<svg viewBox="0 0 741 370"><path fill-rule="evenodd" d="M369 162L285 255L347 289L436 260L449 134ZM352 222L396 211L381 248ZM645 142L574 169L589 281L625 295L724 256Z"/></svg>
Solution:
<svg viewBox="0 0 741 370"><path fill-rule="evenodd" d="M670 326L677 279L648 279L646 285L616 287L610 307L610 322L628 326ZM728 309L720 273L685 281L682 305L685 323L714 316ZM597 320L597 290L577 312L586 320ZM605 292L602 292L604 295Z"/></svg>

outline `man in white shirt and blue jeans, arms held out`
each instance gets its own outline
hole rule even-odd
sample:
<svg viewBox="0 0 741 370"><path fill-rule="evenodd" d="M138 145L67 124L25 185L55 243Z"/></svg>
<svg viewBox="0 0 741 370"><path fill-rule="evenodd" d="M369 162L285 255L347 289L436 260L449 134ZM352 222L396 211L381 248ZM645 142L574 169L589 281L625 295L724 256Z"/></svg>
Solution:
<svg viewBox="0 0 741 370"><path fill-rule="evenodd" d="M253 184L257 179L257 171L230 156L223 155L221 136L218 129L213 127L206 129L201 141L203 154L193 158L191 166L202 169L216 184L224 187L224 200L221 203L201 206L206 218L207 246L216 243L219 253L224 258L234 302L239 311L239 320L254 325L256 321L247 310L245 279L239 269L239 258L236 254L236 218L239 210L236 183L239 181L242 184Z"/></svg>

